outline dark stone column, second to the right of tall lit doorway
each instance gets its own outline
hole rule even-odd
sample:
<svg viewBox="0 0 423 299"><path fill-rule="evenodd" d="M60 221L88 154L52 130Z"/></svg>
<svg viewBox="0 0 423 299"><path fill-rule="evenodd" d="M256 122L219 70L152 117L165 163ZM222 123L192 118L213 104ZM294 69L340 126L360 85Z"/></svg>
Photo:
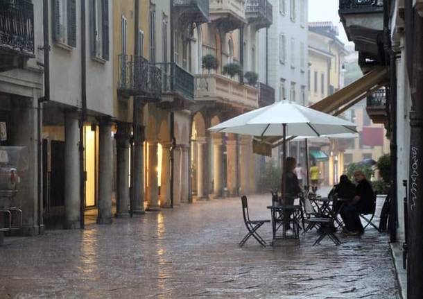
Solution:
<svg viewBox="0 0 423 299"><path fill-rule="evenodd" d="M130 124L119 122L116 133L116 217L129 216Z"/></svg>

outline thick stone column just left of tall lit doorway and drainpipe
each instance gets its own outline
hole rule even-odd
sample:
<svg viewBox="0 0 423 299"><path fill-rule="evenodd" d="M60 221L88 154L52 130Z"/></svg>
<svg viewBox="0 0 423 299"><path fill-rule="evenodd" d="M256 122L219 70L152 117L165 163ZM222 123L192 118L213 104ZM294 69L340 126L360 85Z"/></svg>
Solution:
<svg viewBox="0 0 423 299"><path fill-rule="evenodd" d="M80 228L79 126L76 112L64 114L64 228Z"/></svg>

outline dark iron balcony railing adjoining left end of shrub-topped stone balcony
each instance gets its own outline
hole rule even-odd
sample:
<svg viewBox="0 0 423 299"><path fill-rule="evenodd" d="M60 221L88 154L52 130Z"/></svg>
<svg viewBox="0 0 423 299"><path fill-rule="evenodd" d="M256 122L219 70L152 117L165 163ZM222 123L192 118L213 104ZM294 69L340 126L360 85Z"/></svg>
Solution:
<svg viewBox="0 0 423 299"><path fill-rule="evenodd" d="M175 62L155 64L162 73L162 92L173 93L183 99L193 101L194 77Z"/></svg>

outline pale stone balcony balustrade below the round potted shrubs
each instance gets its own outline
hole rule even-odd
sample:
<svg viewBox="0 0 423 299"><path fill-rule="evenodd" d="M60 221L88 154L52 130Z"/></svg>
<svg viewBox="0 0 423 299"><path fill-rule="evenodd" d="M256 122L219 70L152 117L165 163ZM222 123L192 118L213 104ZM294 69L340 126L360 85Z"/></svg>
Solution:
<svg viewBox="0 0 423 299"><path fill-rule="evenodd" d="M214 102L236 108L259 107L259 89L218 74L196 75L196 102Z"/></svg>

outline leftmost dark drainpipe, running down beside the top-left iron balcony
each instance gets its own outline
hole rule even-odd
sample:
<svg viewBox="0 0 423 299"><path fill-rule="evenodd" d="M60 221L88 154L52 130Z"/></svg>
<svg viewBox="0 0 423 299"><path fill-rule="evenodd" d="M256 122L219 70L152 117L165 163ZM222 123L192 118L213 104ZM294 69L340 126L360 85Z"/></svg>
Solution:
<svg viewBox="0 0 423 299"><path fill-rule="evenodd" d="M44 232L44 221L42 219L43 205L42 205L42 106L46 101L50 101L50 44L49 44L49 0L43 0L42 3L42 27L43 27L43 40L44 40L44 96L38 99L37 110L37 206L38 206L38 228L39 233ZM46 192L46 190L44 190Z"/></svg>

